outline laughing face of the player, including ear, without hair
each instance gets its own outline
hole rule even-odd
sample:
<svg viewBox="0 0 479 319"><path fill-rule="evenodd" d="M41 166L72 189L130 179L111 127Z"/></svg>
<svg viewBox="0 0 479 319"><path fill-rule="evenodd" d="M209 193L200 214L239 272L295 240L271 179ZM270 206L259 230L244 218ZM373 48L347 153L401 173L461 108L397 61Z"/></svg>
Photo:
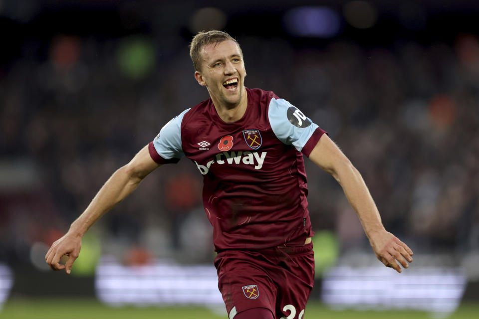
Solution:
<svg viewBox="0 0 479 319"><path fill-rule="evenodd" d="M246 98L243 57L232 40L208 44L201 49L201 70L195 72L200 85L206 86L217 107L235 108Z"/></svg>

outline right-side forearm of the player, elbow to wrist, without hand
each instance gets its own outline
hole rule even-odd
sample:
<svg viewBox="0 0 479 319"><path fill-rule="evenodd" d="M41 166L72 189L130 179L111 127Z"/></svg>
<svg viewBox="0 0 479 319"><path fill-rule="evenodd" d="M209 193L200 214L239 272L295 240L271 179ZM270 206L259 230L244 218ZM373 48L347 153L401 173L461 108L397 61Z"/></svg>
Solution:
<svg viewBox="0 0 479 319"><path fill-rule="evenodd" d="M384 231L379 211L359 171L348 161L341 164L333 176L341 184L346 198L356 211L361 225L368 236Z"/></svg>

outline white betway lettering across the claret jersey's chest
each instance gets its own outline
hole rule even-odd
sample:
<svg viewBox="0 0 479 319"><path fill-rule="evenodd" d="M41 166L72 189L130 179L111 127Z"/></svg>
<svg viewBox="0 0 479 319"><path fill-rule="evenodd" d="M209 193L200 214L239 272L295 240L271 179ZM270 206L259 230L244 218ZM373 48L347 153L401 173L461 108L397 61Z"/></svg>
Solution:
<svg viewBox="0 0 479 319"><path fill-rule="evenodd" d="M228 164L240 164L241 162L246 165L254 165L254 169L260 169L263 166L264 159L266 158L267 152L223 152L216 155L215 160L210 160L205 165L200 165L196 160L194 162L198 166L198 169L203 175L208 174L210 171L210 166L217 162L218 164L222 165L224 163Z"/></svg>

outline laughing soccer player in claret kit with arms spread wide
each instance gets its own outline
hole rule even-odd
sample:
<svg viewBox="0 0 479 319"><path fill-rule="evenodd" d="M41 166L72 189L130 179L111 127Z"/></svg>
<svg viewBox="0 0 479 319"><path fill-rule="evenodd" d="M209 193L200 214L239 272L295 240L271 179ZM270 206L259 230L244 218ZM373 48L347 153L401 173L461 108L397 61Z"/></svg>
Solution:
<svg viewBox="0 0 479 319"><path fill-rule="evenodd" d="M341 184L377 258L398 272L400 265L408 268L413 252L385 230L360 173L326 132L274 93L244 86L234 38L199 32L190 55L195 79L211 98L173 118L113 173L49 249L45 259L53 270L69 274L85 232L150 172L186 156L204 178L229 319L302 319L314 278L303 155ZM63 255L69 258L60 265Z"/></svg>

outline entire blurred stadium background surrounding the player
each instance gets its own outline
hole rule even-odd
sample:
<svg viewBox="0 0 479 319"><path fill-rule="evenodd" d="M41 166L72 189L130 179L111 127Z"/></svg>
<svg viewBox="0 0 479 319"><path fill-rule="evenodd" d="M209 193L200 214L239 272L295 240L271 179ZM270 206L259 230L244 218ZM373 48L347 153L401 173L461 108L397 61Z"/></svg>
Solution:
<svg viewBox="0 0 479 319"><path fill-rule="evenodd" d="M116 168L208 98L188 44L216 28L239 40L246 86L327 130L415 252L403 274L382 267L339 185L307 162L305 316L473 318L478 15L467 0L0 0L0 317L226 318L188 160L99 221L71 276L43 260Z"/></svg>

